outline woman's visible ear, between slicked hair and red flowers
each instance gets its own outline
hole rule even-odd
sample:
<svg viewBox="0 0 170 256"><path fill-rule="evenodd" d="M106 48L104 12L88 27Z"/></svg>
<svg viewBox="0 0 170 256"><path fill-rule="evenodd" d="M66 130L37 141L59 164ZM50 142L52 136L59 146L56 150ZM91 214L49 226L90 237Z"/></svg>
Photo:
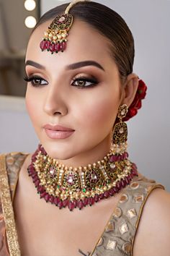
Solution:
<svg viewBox="0 0 170 256"><path fill-rule="evenodd" d="M138 89L138 75L131 73L128 74L125 85L123 87L122 104L126 104L128 107L133 103L136 91Z"/></svg>

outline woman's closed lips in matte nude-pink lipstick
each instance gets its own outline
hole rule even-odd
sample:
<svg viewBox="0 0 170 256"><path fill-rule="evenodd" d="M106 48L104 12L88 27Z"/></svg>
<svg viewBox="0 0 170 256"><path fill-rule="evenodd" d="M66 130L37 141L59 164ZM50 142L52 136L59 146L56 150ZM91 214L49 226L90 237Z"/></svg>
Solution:
<svg viewBox="0 0 170 256"><path fill-rule="evenodd" d="M43 127L45 129L46 135L50 137L50 139L66 139L73 135L74 129L68 127L62 127L61 125L51 125L45 124Z"/></svg>

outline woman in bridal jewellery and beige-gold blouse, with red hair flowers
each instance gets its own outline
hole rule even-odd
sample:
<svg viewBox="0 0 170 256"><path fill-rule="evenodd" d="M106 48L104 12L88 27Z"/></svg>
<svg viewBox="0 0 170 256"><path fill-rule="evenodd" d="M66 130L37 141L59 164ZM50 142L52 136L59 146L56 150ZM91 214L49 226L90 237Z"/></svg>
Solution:
<svg viewBox="0 0 170 256"><path fill-rule="evenodd" d="M1 255L169 255L169 193L127 153L125 121L146 95L133 59L128 26L101 4L37 23L24 79L40 145L1 155Z"/></svg>

